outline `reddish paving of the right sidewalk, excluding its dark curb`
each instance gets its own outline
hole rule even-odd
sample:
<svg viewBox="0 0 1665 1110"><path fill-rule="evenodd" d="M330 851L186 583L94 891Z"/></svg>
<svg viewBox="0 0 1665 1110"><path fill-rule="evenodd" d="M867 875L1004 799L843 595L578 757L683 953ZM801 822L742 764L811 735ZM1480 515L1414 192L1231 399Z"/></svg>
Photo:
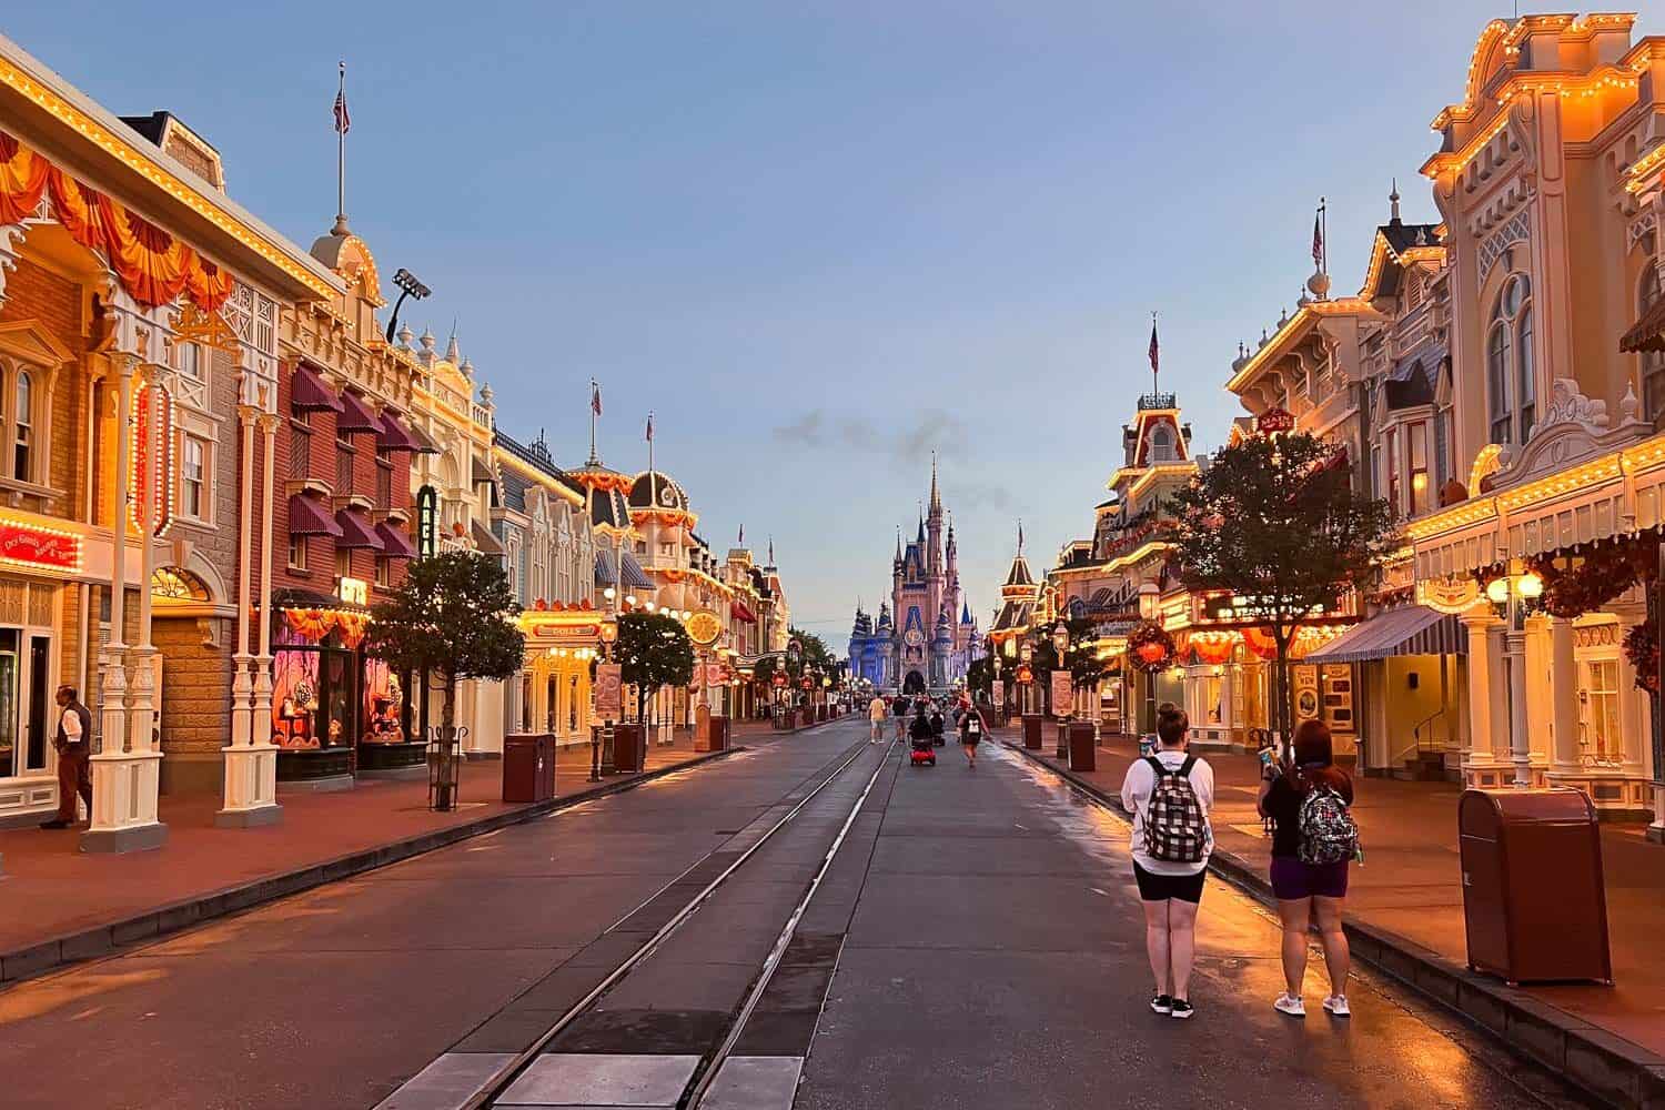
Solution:
<svg viewBox="0 0 1665 1110"><path fill-rule="evenodd" d="M996 736L1022 746L1016 727L997 729ZM1054 759L1054 747L1049 727L1041 761L1067 771L1067 761ZM1099 741L1097 769L1072 772L1071 777L1116 799L1136 757L1136 741L1106 737ZM1265 887L1272 842L1255 812L1259 759L1222 752L1204 757L1215 777L1217 852ZM1349 920L1394 934L1457 969L1467 969L1457 857L1457 799L1462 789L1394 779L1355 779L1354 785L1365 864L1352 869ZM1550 985L1508 992L1498 984L1498 989L1547 1003L1545 1010L1562 1013L1565 1020L1558 1023L1565 1028L1593 1027L1630 1042L1640 1050L1630 1055L1652 1060L1648 1067L1665 1077L1665 962L1658 959L1658 935L1665 925L1665 849L1648 844L1640 825L1603 825L1602 867L1617 985ZM1269 894L1269 889L1264 892Z"/></svg>

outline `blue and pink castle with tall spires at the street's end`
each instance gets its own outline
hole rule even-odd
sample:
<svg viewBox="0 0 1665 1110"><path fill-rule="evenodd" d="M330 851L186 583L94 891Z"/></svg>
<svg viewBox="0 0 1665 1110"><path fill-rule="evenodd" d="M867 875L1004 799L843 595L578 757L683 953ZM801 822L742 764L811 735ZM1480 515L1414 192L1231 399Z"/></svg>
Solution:
<svg viewBox="0 0 1665 1110"><path fill-rule="evenodd" d="M891 601L879 604L877 621L856 606L849 634L851 677L909 694L947 689L966 677L979 642L977 622L959 587L954 524L947 524L944 536L942 519L936 459L931 459L931 509L919 518L919 529L906 549L901 531L896 533Z"/></svg>

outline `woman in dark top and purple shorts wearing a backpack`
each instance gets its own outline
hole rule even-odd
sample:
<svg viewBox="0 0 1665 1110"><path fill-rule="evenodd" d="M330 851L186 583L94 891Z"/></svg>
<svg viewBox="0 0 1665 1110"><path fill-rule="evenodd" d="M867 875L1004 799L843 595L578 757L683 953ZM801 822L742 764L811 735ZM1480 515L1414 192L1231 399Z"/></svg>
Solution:
<svg viewBox="0 0 1665 1110"><path fill-rule="evenodd" d="M1350 955L1342 932L1347 865L1359 854L1352 819L1354 785L1335 766L1330 727L1322 721L1295 726L1287 766L1267 762L1260 772L1260 815L1272 822L1272 894L1284 925L1284 994L1280 1013L1305 1017L1300 990L1307 977L1307 937L1317 919L1330 994L1324 1008L1349 1017Z"/></svg>

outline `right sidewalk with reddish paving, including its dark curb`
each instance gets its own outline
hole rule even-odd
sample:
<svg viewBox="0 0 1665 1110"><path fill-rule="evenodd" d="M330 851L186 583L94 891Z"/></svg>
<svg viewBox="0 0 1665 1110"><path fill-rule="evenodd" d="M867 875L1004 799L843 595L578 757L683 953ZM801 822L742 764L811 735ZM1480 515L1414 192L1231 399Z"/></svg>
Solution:
<svg viewBox="0 0 1665 1110"><path fill-rule="evenodd" d="M997 729L996 736L1022 749L1019 729ZM1066 761L1052 757L1054 749L1049 727L1042 751L1024 754L1031 759L1039 756L1039 762L1121 810L1117 794L1127 766L1137 757L1136 741L1101 739L1097 769L1082 774L1069 772ZM1237 754L1209 754L1207 761L1215 777L1214 865L1269 900L1265 875L1272 842L1255 812L1259 761ZM1640 825L1602 825L1615 987L1510 989L1494 977L1467 970L1457 857L1457 799L1462 789L1440 782L1362 777L1354 780L1354 787L1365 864L1352 869L1347 917L1355 927L1354 947L1360 959L1494 1028L1528 1055L1575 1073L1587 1087L1605 1090L1618 1083L1617 1072L1628 1065L1632 1075L1625 1090L1612 1092L1620 1102L1630 1093L1642 1093L1633 1083L1648 1082L1643 1072L1652 1073L1652 1083L1665 1090L1665 960L1658 955L1658 935L1665 925L1665 849L1648 844ZM1477 1012L1487 1007L1489 1015ZM1540 1027L1528 1030L1533 1020ZM1580 1053L1607 1058L1600 1063L1575 1060ZM1600 1072L1608 1072L1605 1082ZM1592 1078L1597 1082L1592 1083Z"/></svg>

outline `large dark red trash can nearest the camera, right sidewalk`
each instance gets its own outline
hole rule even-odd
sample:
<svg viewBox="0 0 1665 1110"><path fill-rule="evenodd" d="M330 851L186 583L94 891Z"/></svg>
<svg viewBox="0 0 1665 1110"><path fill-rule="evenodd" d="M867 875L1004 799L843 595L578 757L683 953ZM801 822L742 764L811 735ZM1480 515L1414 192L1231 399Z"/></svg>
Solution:
<svg viewBox="0 0 1665 1110"><path fill-rule="evenodd" d="M1457 830L1470 970L1613 982L1602 829L1582 790L1465 790Z"/></svg>

